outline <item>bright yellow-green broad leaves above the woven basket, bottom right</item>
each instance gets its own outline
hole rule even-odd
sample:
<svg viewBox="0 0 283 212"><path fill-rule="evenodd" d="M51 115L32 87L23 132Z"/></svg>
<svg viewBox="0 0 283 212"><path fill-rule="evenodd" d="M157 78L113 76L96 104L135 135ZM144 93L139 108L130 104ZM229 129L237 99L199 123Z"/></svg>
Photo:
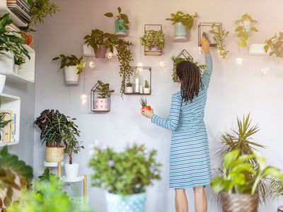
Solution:
<svg viewBox="0 0 283 212"><path fill-rule="evenodd" d="M258 167L250 164L249 160L252 158L258 160ZM212 179L211 186L216 193L225 191L229 194L255 194L262 180L279 176L279 170L267 166L265 158L259 153L242 155L236 149L224 156L222 176Z"/></svg>

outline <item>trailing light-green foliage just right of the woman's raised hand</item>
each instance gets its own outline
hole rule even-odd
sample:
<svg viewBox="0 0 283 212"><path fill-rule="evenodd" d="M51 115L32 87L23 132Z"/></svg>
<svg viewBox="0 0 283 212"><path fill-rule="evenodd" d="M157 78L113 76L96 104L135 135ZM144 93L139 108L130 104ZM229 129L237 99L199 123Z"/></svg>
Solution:
<svg viewBox="0 0 283 212"><path fill-rule="evenodd" d="M213 40L216 42L215 49L218 49L219 55L222 58L225 58L227 54L229 53L228 50L226 50L226 47L223 45L223 41L226 37L229 36L229 31L225 31L221 28L221 25L216 25L216 23L212 23L212 30L209 30L209 33L212 33Z"/></svg>

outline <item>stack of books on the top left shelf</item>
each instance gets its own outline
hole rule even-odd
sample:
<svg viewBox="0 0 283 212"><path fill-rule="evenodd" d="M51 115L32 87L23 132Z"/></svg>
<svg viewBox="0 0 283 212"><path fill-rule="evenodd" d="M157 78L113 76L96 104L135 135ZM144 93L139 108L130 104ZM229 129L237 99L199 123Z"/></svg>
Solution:
<svg viewBox="0 0 283 212"><path fill-rule="evenodd" d="M24 23L30 23L30 5L28 0L7 0L7 6Z"/></svg>

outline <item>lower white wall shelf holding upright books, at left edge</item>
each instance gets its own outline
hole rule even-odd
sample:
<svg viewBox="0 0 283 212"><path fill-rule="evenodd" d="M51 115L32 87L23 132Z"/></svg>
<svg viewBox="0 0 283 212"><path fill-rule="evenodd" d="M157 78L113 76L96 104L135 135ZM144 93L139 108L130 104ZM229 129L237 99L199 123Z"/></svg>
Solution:
<svg viewBox="0 0 283 212"><path fill-rule="evenodd" d="M1 107L0 110L13 110L16 117L16 138L13 142L0 143L0 146L10 146L20 142L20 123L21 123L21 98L18 96L0 93Z"/></svg>

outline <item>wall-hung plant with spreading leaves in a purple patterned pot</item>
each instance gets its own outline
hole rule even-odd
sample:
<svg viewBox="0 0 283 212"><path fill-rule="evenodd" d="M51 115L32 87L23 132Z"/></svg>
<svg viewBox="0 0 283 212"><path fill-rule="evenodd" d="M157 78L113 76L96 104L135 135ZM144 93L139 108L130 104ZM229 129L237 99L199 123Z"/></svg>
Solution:
<svg viewBox="0 0 283 212"><path fill-rule="evenodd" d="M86 35L84 38L85 44L93 48L96 58L105 58L107 49L113 53L114 45L117 44L117 36L110 33L95 29L91 30L91 35Z"/></svg>

